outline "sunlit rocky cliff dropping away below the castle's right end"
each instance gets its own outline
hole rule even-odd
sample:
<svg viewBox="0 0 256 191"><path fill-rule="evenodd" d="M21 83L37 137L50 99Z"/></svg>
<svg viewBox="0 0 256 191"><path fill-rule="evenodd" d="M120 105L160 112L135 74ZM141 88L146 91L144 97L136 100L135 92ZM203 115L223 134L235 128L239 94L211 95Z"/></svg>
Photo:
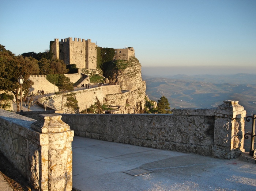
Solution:
<svg viewBox="0 0 256 191"><path fill-rule="evenodd" d="M120 85L122 94L106 95L103 104L118 106L116 113L140 113L144 109L146 82L142 81L141 65L135 56L109 63L104 75Z"/></svg>

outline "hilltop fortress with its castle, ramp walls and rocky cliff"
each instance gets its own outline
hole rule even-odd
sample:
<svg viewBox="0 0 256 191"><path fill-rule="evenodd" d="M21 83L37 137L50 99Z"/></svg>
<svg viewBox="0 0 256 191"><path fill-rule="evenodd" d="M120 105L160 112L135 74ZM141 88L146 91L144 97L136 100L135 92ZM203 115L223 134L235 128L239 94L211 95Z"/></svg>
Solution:
<svg viewBox="0 0 256 191"><path fill-rule="evenodd" d="M96 47L97 45L92 43L91 39L75 38L73 41L72 38L66 38L61 39L60 42L59 39L50 42L50 51L52 51L54 58L63 60L66 65L75 64L79 68L77 74L65 74L76 87L90 83L91 74L84 74L83 69L99 71L97 69ZM140 113L144 109L146 82L142 81L141 65L138 59L135 58L133 47L114 49L114 61L118 62L121 67L113 67L108 70L111 85L94 86L91 89L83 88L75 92L75 98L80 108L79 112L93 105L96 97L101 104L113 108L115 110L113 113ZM34 82L30 89L31 92L36 93L37 90L44 90L47 93L58 90L54 84L46 79L46 75L30 76L30 80ZM107 81L106 83L109 83ZM45 100L42 99L42 101ZM57 107L61 106L59 95L52 95L50 101L51 104ZM64 103L65 101L66 97ZM63 109L66 110L67 108L64 107Z"/></svg>

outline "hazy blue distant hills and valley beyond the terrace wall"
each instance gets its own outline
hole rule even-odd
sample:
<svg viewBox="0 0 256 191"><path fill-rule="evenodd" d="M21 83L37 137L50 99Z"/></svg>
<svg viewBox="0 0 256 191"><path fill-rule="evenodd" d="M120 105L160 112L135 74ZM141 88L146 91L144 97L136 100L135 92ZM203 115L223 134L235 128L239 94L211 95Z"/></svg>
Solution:
<svg viewBox="0 0 256 191"><path fill-rule="evenodd" d="M212 75L176 75L175 77L176 79L143 76L147 85L146 94L150 100L157 101L164 95L171 109L214 108L223 104L224 100L238 100L238 104L245 108L246 116L256 114L256 75L247 76L255 84L235 83L239 81L238 79L241 80L240 82L248 82L244 74L222 77ZM233 83L227 83L232 77ZM253 77L255 79L252 79ZM220 83L211 83L210 79ZM251 131L251 123L246 124L245 127L245 131L249 130ZM246 140L248 145L247 142L248 140Z"/></svg>

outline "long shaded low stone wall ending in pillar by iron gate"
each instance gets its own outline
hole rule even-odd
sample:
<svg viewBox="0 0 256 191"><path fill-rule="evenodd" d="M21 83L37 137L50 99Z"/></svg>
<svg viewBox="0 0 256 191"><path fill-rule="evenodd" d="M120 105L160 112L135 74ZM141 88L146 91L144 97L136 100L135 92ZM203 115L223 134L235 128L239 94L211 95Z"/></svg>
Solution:
<svg viewBox="0 0 256 191"><path fill-rule="evenodd" d="M61 114L75 135L232 159L244 152L245 110L238 101L173 114Z"/></svg>

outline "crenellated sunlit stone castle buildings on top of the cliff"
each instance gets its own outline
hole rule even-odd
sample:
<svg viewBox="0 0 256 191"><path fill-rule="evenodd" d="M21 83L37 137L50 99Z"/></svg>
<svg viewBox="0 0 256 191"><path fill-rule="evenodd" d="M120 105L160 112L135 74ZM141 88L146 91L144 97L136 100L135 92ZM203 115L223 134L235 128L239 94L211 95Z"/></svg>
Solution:
<svg viewBox="0 0 256 191"><path fill-rule="evenodd" d="M63 60L66 65L75 64L80 69L96 69L97 67L97 45L91 42L91 39L72 40L72 37L54 39L50 42L50 51L54 58ZM131 56L135 56L132 47L115 49L114 59L129 60Z"/></svg>

